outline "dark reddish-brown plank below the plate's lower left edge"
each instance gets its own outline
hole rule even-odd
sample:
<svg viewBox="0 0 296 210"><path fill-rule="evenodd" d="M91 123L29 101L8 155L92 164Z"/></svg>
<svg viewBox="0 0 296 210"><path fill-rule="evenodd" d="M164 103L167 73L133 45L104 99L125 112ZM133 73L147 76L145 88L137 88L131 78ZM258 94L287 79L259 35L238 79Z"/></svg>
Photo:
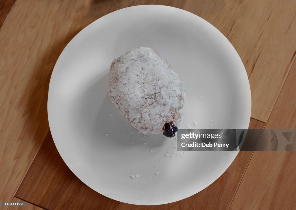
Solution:
<svg viewBox="0 0 296 210"><path fill-rule="evenodd" d="M62 160L50 132L15 195L46 209L117 209L80 181Z"/></svg>

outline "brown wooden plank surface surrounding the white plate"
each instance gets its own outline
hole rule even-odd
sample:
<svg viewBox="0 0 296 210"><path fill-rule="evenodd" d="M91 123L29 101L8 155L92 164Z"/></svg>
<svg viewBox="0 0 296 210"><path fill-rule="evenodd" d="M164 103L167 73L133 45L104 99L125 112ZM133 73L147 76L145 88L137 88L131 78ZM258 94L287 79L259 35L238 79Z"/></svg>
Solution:
<svg viewBox="0 0 296 210"><path fill-rule="evenodd" d="M250 128L296 128L295 0L0 0L0 201L27 201L26 209L296 209L295 152L240 152L212 185L161 206L104 197L67 168L47 120L54 64L82 28L139 4L185 9L218 28L247 70Z"/></svg>

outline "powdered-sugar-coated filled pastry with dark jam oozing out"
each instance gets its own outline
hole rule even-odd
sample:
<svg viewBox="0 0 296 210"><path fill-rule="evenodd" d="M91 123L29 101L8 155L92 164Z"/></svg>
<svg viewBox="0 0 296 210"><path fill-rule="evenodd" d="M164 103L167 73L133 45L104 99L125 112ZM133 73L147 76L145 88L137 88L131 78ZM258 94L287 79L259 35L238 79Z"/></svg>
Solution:
<svg viewBox="0 0 296 210"><path fill-rule="evenodd" d="M109 94L121 114L140 132L174 137L184 113L181 78L160 55L139 47L113 60Z"/></svg>

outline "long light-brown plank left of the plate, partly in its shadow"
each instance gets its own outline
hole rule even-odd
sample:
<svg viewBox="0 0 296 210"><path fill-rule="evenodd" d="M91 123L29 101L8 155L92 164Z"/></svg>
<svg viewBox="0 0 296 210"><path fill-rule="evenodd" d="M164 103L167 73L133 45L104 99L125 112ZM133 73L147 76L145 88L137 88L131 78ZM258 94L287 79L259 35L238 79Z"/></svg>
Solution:
<svg viewBox="0 0 296 210"><path fill-rule="evenodd" d="M13 198L49 132L48 86L59 54L82 28L124 2L16 2L0 31L1 200Z"/></svg>

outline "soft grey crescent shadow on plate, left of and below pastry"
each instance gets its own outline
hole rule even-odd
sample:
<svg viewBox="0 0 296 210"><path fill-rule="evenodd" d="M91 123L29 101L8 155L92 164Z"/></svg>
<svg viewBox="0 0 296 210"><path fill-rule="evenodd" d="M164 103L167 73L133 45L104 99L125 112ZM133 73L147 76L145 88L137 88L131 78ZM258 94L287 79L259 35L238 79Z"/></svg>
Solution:
<svg viewBox="0 0 296 210"><path fill-rule="evenodd" d="M96 139L125 147L162 146L167 140L162 133L144 135L138 132L112 104L108 92L108 77L108 74L104 74L91 78L88 86L78 94L74 106L75 113L78 113L75 121L79 125L76 124L75 127L81 129L86 138L91 138L91 142Z"/></svg>

